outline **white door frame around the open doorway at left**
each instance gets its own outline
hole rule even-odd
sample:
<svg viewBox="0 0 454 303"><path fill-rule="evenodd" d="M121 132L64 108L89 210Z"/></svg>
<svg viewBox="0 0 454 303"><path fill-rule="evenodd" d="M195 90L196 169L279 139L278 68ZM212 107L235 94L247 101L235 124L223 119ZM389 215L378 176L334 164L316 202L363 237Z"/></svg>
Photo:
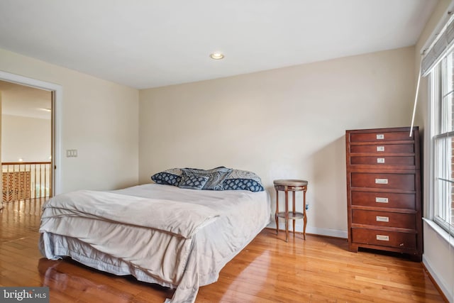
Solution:
<svg viewBox="0 0 454 303"><path fill-rule="evenodd" d="M62 184L61 184L61 178L62 178L61 116L62 116L63 87L61 85L15 75L15 74L11 74L9 72L3 72L1 70L0 70L0 80L4 80L7 82L15 82L17 84L26 85L28 87L45 89L45 90L55 93L55 104L53 106L53 112L52 112L52 115L53 115L52 119L54 119L53 133L55 136L55 138L53 138L54 148L52 150L52 162L55 165L53 167L54 168L53 174L54 174L55 182L54 182L54 184L52 184L52 189L53 189L52 196L55 196L55 194L61 194L61 190L62 190Z"/></svg>

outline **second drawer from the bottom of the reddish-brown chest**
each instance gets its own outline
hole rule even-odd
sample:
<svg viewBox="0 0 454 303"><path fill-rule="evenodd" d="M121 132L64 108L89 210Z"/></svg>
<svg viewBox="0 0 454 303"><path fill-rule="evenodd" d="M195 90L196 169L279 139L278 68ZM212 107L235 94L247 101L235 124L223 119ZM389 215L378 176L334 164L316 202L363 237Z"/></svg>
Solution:
<svg viewBox="0 0 454 303"><path fill-rule="evenodd" d="M415 215L390 211L367 211L352 209L352 224L367 224L374 226L389 226L415 229Z"/></svg>

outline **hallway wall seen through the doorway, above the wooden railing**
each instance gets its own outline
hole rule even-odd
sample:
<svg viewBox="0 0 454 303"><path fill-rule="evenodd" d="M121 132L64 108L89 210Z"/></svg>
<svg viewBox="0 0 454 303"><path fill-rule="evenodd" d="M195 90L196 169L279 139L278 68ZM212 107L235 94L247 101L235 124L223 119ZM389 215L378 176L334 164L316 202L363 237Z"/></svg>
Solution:
<svg viewBox="0 0 454 303"><path fill-rule="evenodd" d="M50 120L1 115L1 160L48 162L51 154Z"/></svg>

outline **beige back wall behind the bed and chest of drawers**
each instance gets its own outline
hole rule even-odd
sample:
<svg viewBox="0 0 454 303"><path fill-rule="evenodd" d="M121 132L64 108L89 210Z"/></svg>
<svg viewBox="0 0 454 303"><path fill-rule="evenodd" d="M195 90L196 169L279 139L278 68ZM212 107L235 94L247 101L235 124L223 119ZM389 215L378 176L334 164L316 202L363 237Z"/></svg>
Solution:
<svg viewBox="0 0 454 303"><path fill-rule="evenodd" d="M142 90L139 182L225 165L258 173L274 201L273 180L305 179L307 231L346 237L345 130L409 126L411 75L402 48Z"/></svg>

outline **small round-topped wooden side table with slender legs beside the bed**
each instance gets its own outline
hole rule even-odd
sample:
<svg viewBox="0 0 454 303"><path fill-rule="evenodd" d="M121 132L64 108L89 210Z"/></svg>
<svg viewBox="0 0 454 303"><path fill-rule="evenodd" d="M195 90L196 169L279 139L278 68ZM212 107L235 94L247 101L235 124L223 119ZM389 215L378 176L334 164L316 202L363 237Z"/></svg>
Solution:
<svg viewBox="0 0 454 303"><path fill-rule="evenodd" d="M293 236L295 236L295 220L303 219L303 238L306 240L306 180L275 180L276 189L276 234L279 233L279 218L285 219L285 242L289 238L289 220L293 220ZM285 192L285 211L279 211L279 191ZM293 192L293 207L292 211L289 211L289 192ZM296 192L303 192L303 212L295 211L295 194Z"/></svg>

